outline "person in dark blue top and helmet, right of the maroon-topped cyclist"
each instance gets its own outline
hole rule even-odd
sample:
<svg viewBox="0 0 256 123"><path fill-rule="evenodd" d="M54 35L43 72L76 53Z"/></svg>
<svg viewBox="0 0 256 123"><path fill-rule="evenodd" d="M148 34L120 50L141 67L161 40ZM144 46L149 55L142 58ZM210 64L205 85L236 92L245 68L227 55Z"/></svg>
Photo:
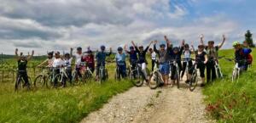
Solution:
<svg viewBox="0 0 256 123"><path fill-rule="evenodd" d="M96 53L96 80L99 79L100 67L105 67L106 57L110 56L112 53L112 48L109 48L109 53L105 52L106 47L104 45L101 46L101 51Z"/></svg>

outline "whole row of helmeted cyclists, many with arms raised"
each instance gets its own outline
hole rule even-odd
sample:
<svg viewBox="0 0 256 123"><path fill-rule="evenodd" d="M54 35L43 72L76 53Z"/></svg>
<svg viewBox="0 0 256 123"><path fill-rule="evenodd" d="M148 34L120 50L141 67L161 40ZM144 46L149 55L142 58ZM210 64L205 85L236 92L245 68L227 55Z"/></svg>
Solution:
<svg viewBox="0 0 256 123"><path fill-rule="evenodd" d="M146 54L151 54L152 59L152 70L154 68L154 64L158 61L159 70L162 75L162 80L164 81L164 85L171 85L173 87L175 81L174 71L179 70L181 73L181 78L185 73L186 67L188 67L188 74L186 83L189 83L191 79L191 74L193 69L200 70L201 76L201 87L205 86L205 70L207 69L207 82L214 81L216 79L216 73L214 65L218 63L218 50L222 48L225 42L225 36L223 36L223 41L215 46L214 41L209 41L207 45L204 44L204 36L201 35L201 42L198 45L198 48L195 50L193 45L185 43L183 40L180 46L173 46L172 42L164 36L165 42L160 43L160 48L157 48L158 41L152 41L148 44L146 48L141 46L137 46L135 42L131 42L131 47L129 50L127 49L127 45L124 48L117 48L117 53L115 55L116 67L119 68L119 73L122 77L126 77L126 54L129 54L129 63L131 64L131 70L134 70L139 64L142 68L143 75L145 76L145 81L149 82L150 76L147 72L147 59ZM154 43L154 48L150 48L151 44ZM239 67L243 68L243 70L247 70L247 66L251 64L248 60L249 54L252 52L250 48L247 48L247 43L241 44L239 42L234 42L233 47L236 49L235 57L236 62L239 62ZM101 50L94 53L87 49L87 51L83 52L82 48L77 48L76 52L73 54L73 48L70 49L70 53L65 53L64 56L61 56L60 52L49 52L48 59L46 59L42 64L38 64L38 67L46 66L51 68L55 74L60 73L61 67L67 68L67 76L69 81L72 81L72 62L75 59L75 68L78 73L78 77L81 77L81 69L83 65L86 65L90 71L93 73L96 70L96 81L99 79L99 70L101 66L105 67L106 58L110 56L112 53L112 48L109 48L109 52L106 52L106 47L101 46ZM195 62L193 62L192 53L195 54ZM15 50L15 55L18 59L18 74L20 74L25 84L29 84L26 73L26 64L29 59L32 58L34 52L32 51L32 55L24 56L23 53L18 55L18 49ZM158 56L158 58L157 58ZM95 62L96 59L96 62ZM172 62L175 61L177 65L174 65ZM95 68L96 64L96 68ZM194 66L197 66L195 68ZM188 66L187 66L188 65ZM171 73L171 75L170 75ZM170 80L169 81L169 77ZM56 81L55 81L56 84ZM66 86L66 83L63 84L63 87Z"/></svg>

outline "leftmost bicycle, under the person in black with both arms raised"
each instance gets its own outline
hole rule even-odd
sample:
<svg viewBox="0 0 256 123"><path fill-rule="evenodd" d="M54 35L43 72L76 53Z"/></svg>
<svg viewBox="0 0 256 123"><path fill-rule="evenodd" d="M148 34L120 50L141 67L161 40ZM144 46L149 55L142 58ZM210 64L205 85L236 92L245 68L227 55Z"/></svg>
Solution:
<svg viewBox="0 0 256 123"><path fill-rule="evenodd" d="M15 81L15 92L18 92L18 90L20 90L24 87L26 87L27 90L30 90L31 89L31 84L30 84L31 79L30 79L30 77L27 76L27 79L28 79L27 84L25 84L25 81L24 81L23 77L21 77L21 74L25 74L26 71L25 70L18 70L17 72L18 72L17 73L18 76L17 76L17 79Z"/></svg>

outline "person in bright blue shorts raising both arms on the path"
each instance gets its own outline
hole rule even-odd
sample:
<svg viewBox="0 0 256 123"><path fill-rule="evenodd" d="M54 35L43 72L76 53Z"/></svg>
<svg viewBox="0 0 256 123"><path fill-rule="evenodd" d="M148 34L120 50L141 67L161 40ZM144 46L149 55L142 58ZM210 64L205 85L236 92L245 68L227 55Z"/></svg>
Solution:
<svg viewBox="0 0 256 123"><path fill-rule="evenodd" d="M166 60L167 53L168 53L166 49L166 44L168 44L168 42L166 42L166 44L161 43L159 50L156 49L156 43L157 41L154 41L154 52L157 53L159 56L159 69L160 69L160 73L162 75L164 84L166 86L168 84L168 79L169 79L168 75L170 73L170 66Z"/></svg>

